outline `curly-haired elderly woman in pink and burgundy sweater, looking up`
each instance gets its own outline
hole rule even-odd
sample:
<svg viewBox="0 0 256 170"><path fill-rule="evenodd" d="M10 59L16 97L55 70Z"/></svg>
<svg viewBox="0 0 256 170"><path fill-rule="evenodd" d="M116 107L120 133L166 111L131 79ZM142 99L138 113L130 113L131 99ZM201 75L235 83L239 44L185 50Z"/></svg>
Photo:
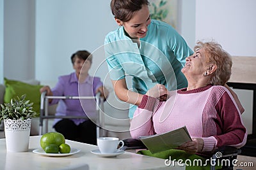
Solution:
<svg viewBox="0 0 256 170"><path fill-rule="evenodd" d="M148 136L173 131L186 125L192 141L179 150L211 155L220 146L240 148L246 143L246 128L241 111L230 90L224 87L230 78L232 59L218 43L198 41L195 53L186 58L182 73L188 87L168 92L156 85L143 96L131 120L131 136Z"/></svg>

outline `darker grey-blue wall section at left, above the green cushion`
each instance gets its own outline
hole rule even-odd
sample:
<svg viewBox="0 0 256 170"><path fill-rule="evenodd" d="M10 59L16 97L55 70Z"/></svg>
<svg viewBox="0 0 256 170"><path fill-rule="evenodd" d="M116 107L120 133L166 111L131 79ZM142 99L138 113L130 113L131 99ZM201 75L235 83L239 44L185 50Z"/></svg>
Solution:
<svg viewBox="0 0 256 170"><path fill-rule="evenodd" d="M35 1L5 0L3 11L3 74L17 80L32 79L35 77Z"/></svg>

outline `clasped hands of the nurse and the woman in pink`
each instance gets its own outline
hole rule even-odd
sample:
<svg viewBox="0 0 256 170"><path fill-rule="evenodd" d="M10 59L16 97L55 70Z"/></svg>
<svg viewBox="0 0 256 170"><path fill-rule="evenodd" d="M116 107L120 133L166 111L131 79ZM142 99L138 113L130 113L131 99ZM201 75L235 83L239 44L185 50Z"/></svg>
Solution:
<svg viewBox="0 0 256 170"><path fill-rule="evenodd" d="M159 100L163 101L164 99L166 100L167 94L168 94L168 90L166 89L166 87L164 85L157 84L151 89L149 89L146 95L150 97L155 97L155 98L160 97ZM161 99L161 97L163 97L163 99Z"/></svg>

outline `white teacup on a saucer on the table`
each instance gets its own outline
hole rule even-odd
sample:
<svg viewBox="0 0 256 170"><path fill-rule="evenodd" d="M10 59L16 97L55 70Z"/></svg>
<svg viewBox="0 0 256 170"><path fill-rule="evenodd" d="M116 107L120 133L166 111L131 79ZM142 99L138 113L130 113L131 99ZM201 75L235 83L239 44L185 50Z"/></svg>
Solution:
<svg viewBox="0 0 256 170"><path fill-rule="evenodd" d="M116 153L118 151L117 147L119 143L122 143L122 146L118 148L118 149L121 149L124 146L124 141L119 140L118 138L112 138L112 137L97 138L97 145L99 147L100 153Z"/></svg>

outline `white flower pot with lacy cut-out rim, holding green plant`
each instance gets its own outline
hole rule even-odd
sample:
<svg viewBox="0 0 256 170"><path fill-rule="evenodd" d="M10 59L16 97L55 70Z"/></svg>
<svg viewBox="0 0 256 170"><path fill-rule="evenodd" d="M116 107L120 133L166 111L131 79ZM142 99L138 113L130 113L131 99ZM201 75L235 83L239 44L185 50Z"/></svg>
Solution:
<svg viewBox="0 0 256 170"><path fill-rule="evenodd" d="M28 120L4 120L4 132L7 152L27 152L31 119Z"/></svg>

